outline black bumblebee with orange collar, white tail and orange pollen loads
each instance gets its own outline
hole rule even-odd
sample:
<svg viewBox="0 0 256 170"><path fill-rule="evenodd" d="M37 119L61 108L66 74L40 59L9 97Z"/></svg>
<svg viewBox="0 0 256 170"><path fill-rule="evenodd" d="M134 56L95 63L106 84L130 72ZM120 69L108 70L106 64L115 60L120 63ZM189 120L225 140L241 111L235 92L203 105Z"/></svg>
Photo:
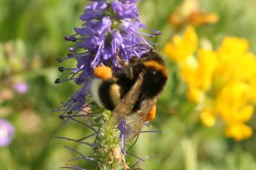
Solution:
<svg viewBox="0 0 256 170"><path fill-rule="evenodd" d="M125 138L132 139L143 123L156 116L156 99L168 79L163 58L153 50L141 58L132 57L129 63L120 62L122 71L95 68L91 92L97 104L112 111L109 125L125 122Z"/></svg>

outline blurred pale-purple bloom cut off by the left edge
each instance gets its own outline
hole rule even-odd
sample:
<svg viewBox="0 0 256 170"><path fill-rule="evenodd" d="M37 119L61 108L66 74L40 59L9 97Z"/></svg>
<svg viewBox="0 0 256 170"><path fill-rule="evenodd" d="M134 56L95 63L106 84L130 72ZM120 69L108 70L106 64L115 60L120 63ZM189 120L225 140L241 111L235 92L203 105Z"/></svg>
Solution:
<svg viewBox="0 0 256 170"><path fill-rule="evenodd" d="M0 147L8 146L12 142L14 132L15 130L11 123L0 119Z"/></svg>

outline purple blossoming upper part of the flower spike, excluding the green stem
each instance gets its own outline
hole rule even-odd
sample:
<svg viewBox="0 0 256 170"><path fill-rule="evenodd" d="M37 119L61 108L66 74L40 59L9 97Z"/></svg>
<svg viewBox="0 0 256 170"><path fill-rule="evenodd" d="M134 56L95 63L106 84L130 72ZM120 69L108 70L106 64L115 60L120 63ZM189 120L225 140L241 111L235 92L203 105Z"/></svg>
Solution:
<svg viewBox="0 0 256 170"><path fill-rule="evenodd" d="M99 65L106 65L112 68L113 72L120 70L120 65L116 56L125 62L133 56L140 57L141 54L148 51L148 48L140 48L140 45L147 45L152 48L154 43L148 41L143 36L152 37L157 35L159 31L154 31L140 23L138 17L136 2L138 0L90 0L92 3L85 6L80 19L84 21L82 27L76 27L76 34L66 36L66 40L76 42L75 47L68 50L74 54L68 54L66 58L58 59L58 61L66 61L67 59L76 58L77 68L63 68L72 70L70 79L58 79L56 83L63 81L74 81L86 88L77 91L76 100L74 96L63 104L61 109L56 111L79 112L82 111L86 102L86 95L90 95L90 79L94 77L93 68ZM141 33L140 29L148 29L152 34ZM75 54L79 49L84 52ZM121 68L122 69L122 68ZM80 94L81 93L81 94ZM72 99L73 98L73 99ZM73 101L73 102L72 102Z"/></svg>

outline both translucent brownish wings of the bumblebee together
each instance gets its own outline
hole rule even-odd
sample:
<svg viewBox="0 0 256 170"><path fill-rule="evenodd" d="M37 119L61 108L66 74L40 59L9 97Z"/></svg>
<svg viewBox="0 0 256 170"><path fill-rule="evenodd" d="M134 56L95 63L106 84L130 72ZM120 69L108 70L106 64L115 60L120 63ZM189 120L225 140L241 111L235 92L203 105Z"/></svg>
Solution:
<svg viewBox="0 0 256 170"><path fill-rule="evenodd" d="M136 80L132 88L128 91L124 98L116 105L113 110L108 125L115 126L116 124L124 121L124 135L127 141L133 139L140 133L143 123L147 121L148 112L156 104L156 98L145 99L141 102L141 107L138 111L132 112L141 93L141 86L143 84L143 74L140 73L139 78Z"/></svg>

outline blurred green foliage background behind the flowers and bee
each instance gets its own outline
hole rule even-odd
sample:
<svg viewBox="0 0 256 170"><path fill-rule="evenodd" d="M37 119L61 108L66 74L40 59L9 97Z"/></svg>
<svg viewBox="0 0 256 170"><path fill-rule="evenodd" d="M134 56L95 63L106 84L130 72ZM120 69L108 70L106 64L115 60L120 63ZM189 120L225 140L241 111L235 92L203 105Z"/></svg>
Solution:
<svg viewBox="0 0 256 170"><path fill-rule="evenodd" d="M58 63L73 44L64 36L72 35L80 27L83 13L82 0L1 0L0 1L0 118L10 121L15 135L10 146L0 148L0 169L60 169L75 153L70 146L92 154L83 145L55 139L55 136L78 138L86 136L83 127L74 122L62 124L58 113L52 112L65 102L78 87L72 82L54 84L59 66L72 67L73 63ZM163 50L177 30L168 24L168 18L180 6L180 0L142 0L138 3L141 22L163 32L154 41ZM239 36L250 42L250 51L256 53L255 0L202 0L200 10L214 12L220 17L216 24L198 26L198 36L206 37L219 47L223 36ZM212 128L195 123L184 84L177 77L177 68L168 59L170 81L158 101L157 118L153 129L163 134L142 134L132 153L140 157L156 154L143 169L227 169L250 170L256 167L256 138L236 142L223 135L221 125ZM28 91L19 93L15 84L25 82ZM250 122L255 130L256 123ZM132 162L136 160L129 158ZM88 162L80 163L93 169Z"/></svg>

